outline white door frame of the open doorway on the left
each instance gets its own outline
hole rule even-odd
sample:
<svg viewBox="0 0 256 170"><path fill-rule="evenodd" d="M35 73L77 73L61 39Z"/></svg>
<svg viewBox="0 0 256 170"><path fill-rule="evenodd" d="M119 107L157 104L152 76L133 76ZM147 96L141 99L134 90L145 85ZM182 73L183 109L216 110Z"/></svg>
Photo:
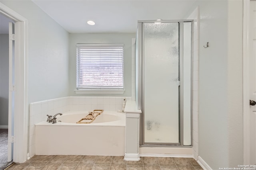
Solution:
<svg viewBox="0 0 256 170"><path fill-rule="evenodd" d="M28 20L2 3L0 14L16 23L13 162L22 163L28 150Z"/></svg>

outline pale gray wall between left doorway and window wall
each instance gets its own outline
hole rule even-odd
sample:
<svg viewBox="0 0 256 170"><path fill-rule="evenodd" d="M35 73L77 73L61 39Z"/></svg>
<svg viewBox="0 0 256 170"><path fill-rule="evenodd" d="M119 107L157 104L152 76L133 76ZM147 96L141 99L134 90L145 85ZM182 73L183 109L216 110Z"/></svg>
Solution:
<svg viewBox="0 0 256 170"><path fill-rule="evenodd" d="M28 20L28 103L68 96L68 32L32 1L1 3Z"/></svg>

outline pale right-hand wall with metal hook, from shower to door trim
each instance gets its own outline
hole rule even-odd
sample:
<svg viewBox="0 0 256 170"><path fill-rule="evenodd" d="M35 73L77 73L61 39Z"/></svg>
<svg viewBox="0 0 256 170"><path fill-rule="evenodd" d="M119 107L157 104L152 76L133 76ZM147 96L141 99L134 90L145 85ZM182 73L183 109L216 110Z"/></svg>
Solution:
<svg viewBox="0 0 256 170"><path fill-rule="evenodd" d="M243 164L242 0L197 0L191 12L197 6L199 156L212 169L237 167Z"/></svg>

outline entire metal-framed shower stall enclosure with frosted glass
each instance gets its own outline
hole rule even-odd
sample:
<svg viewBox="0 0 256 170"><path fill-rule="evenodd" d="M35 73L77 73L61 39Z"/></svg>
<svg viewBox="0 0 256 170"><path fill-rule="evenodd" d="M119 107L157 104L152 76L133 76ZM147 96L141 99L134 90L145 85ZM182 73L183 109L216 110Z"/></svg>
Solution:
<svg viewBox="0 0 256 170"><path fill-rule="evenodd" d="M136 102L141 146L192 145L192 20L138 21Z"/></svg>

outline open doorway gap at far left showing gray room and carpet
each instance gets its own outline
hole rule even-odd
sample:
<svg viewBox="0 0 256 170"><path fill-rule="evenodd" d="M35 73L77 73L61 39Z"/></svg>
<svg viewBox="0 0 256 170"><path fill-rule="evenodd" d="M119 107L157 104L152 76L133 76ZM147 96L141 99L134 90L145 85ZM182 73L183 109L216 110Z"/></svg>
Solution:
<svg viewBox="0 0 256 170"><path fill-rule="evenodd" d="M8 141L8 134L12 128L8 128L9 117L9 23L14 21L0 14L0 169L6 168L12 163L13 144ZM13 121L12 121L13 122ZM10 147L10 149L8 148ZM8 158L8 155L9 158Z"/></svg>

